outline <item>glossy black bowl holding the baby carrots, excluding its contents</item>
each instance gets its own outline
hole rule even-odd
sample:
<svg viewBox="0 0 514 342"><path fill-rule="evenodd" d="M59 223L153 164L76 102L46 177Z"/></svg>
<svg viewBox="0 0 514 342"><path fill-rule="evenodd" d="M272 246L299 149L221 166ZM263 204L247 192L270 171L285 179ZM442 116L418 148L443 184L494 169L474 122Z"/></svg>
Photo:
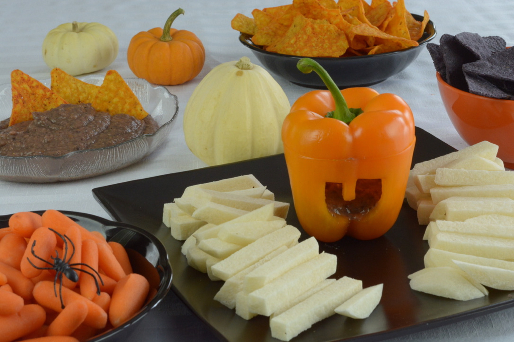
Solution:
<svg viewBox="0 0 514 342"><path fill-rule="evenodd" d="M107 330L88 341L121 340L134 333L141 318L154 309L167 295L171 288L172 268L168 253L162 243L146 230L120 222L113 222L102 217L61 211L89 231L102 233L107 241L122 244L127 250L135 273L144 275L150 282L150 288L155 289L155 295L139 312L121 326ZM38 211L43 213L43 211ZM8 226L11 215L0 216L0 228Z"/></svg>

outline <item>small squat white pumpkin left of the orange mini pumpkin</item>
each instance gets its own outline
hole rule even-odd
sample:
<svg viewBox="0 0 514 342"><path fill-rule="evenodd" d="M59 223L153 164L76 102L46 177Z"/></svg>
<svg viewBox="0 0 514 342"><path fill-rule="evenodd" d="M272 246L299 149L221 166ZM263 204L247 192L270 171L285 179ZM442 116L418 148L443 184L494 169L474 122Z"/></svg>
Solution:
<svg viewBox="0 0 514 342"><path fill-rule="evenodd" d="M72 76L101 70L118 55L118 38L99 23L66 23L54 28L43 41L43 59L51 68Z"/></svg>

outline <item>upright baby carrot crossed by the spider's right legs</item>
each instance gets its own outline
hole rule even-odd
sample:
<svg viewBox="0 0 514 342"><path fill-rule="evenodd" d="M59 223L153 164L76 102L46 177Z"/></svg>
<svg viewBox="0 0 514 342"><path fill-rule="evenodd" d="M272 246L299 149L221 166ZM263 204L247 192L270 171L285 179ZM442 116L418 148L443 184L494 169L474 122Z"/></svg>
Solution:
<svg viewBox="0 0 514 342"><path fill-rule="evenodd" d="M89 265L93 270L98 271L98 245L91 239L85 239L82 241L82 263ZM88 267L85 267L84 271L87 271L94 276L91 276L91 274L86 272L80 272L80 294L87 299L93 299L98 296L97 281L98 286L100 286L103 278L102 281L100 281L96 273ZM97 278L96 281L95 278Z"/></svg>

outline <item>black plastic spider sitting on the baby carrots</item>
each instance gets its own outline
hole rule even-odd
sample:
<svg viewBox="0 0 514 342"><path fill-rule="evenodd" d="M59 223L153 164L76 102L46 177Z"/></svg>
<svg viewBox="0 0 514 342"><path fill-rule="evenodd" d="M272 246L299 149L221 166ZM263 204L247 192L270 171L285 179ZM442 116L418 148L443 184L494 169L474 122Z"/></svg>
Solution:
<svg viewBox="0 0 514 342"><path fill-rule="evenodd" d="M27 260L29 261L30 265L32 265L33 267L35 267L38 270L55 270L57 272L56 276L53 279L53 292L55 293L55 295L57 297L57 280L59 280L59 298L61 299L61 308L64 309L63 293L62 293L63 274L66 276L66 278L73 281L74 283L77 283L77 281L79 281L79 275L77 274L76 271L81 271L86 274L89 274L90 276L92 276L95 279L95 284L97 287L97 294L100 294L100 284L98 283L98 279L95 276L95 274L98 276L98 278L100 279L100 282L103 285L103 280L102 280L102 277L100 276L100 273L98 273L93 267L91 267L87 264L83 264L83 263L70 264L69 262L71 261L71 258L75 254L74 243L71 241L71 239L68 236L66 236L66 234L62 235L59 232L57 232L51 228L48 228L48 229L51 230L52 232L56 233L63 240L63 243L64 243L63 258L62 259L59 258L59 252L56 251L56 256L55 257L51 256L51 258L53 260L53 264L52 264L48 260L45 260L45 259L39 257L38 255L35 255L34 246L35 246L36 241L34 240L34 242L32 243L32 247L30 248L30 252L32 253L32 255L34 257L40 259L41 261L44 261L46 264L50 265L51 267L38 267L38 266L35 266L28 257L27 257ZM71 255L69 256L69 258L66 259L67 255L68 255L68 241L71 244L71 247L73 248L73 250L71 251ZM75 266L89 267L94 273L77 268Z"/></svg>

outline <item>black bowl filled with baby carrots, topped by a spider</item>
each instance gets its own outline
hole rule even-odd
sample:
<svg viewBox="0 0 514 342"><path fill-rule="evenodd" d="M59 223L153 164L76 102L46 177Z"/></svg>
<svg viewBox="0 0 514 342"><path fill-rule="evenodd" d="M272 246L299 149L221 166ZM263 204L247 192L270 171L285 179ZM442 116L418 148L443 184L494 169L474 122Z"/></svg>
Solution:
<svg viewBox="0 0 514 342"><path fill-rule="evenodd" d="M171 288L160 241L94 215L0 216L0 336L119 340Z"/></svg>

